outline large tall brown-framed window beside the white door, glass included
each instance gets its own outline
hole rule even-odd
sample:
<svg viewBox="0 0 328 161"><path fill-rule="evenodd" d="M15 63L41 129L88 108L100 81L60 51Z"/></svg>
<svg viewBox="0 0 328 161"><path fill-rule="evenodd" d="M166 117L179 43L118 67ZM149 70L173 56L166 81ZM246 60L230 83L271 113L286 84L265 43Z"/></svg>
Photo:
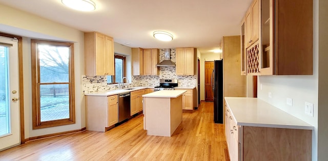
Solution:
<svg viewBox="0 0 328 161"><path fill-rule="evenodd" d="M31 40L33 129L75 123L74 46Z"/></svg>

